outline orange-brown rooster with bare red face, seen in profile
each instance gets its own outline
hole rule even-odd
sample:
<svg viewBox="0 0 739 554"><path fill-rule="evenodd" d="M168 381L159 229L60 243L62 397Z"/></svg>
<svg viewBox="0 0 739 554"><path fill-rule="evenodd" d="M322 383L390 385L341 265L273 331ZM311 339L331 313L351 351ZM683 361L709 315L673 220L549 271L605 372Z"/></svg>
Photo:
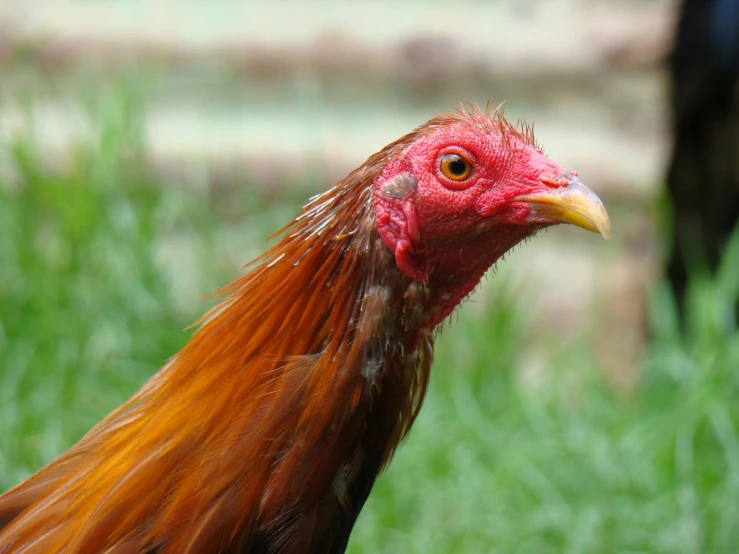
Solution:
<svg viewBox="0 0 739 554"><path fill-rule="evenodd" d="M423 403L434 330L597 196L500 110L440 115L315 196L190 342L0 497L0 552L339 553Z"/></svg>

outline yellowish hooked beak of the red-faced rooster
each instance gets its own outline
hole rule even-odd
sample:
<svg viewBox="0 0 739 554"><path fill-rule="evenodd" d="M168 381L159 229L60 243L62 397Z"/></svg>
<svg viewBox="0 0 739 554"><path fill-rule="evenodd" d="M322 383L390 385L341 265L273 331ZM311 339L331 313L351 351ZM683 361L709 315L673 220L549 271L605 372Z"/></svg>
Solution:
<svg viewBox="0 0 739 554"><path fill-rule="evenodd" d="M529 219L570 223L611 238L611 221L603 202L574 176L567 184L546 192L517 196L514 202L525 202L531 208ZM548 182L548 181L545 181Z"/></svg>

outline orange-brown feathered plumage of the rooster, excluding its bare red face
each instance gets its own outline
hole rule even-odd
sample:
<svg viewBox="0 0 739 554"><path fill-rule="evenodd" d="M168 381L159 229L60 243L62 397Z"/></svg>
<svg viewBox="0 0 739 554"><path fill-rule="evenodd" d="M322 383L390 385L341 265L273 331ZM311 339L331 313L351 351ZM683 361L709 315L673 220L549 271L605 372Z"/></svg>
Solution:
<svg viewBox="0 0 739 554"><path fill-rule="evenodd" d="M348 491L371 487L418 414L433 350L417 336L429 291L379 239L372 183L461 117L430 121L313 198L179 354L0 497L0 552L335 548L335 523L361 508Z"/></svg>

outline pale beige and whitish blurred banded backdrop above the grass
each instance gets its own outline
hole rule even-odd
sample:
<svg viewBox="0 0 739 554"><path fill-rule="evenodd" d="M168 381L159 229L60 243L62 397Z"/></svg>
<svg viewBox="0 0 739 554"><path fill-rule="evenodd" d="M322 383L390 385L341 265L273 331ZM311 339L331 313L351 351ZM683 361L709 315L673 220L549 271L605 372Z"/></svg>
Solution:
<svg viewBox="0 0 739 554"><path fill-rule="evenodd" d="M620 384L638 358L658 252L648 217L667 148L664 75L674 2L2 0L0 136L30 128L48 157L84 140L73 90L118 69L164 68L145 106L152 165L219 186L319 175L326 186L460 101L507 100L548 155L612 212L607 245L537 238L502 273L542 326L598 329ZM18 60L21 60L19 63ZM30 117L13 83L50 77ZM482 295L484 298L484 294ZM485 302L479 302L484 307ZM536 353L532 354L536 366Z"/></svg>

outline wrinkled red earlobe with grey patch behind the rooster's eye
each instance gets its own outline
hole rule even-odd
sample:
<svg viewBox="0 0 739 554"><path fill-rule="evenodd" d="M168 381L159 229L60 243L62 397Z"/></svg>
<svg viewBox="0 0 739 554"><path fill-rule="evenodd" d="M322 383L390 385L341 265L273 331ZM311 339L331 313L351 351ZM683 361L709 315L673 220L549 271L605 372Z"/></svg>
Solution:
<svg viewBox="0 0 739 554"><path fill-rule="evenodd" d="M416 281L424 281L429 269L423 259L423 241L413 203L418 185L412 173L400 173L375 189L377 232L395 255L398 269Z"/></svg>

